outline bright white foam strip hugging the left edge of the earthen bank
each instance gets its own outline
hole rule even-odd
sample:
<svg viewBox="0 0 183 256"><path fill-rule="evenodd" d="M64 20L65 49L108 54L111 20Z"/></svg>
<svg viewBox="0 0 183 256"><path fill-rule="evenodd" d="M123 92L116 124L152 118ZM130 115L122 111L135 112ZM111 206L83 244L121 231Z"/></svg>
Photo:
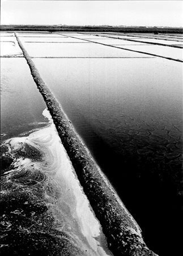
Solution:
<svg viewBox="0 0 183 256"><path fill-rule="evenodd" d="M66 201L68 200L68 195L70 195L71 197L75 197L75 202L73 203L73 206L75 204L75 210L73 210L73 217L77 219L82 234L84 235L84 237L86 237L89 245L92 248L90 254L108 255L101 247L100 242L95 239L97 237L100 237L101 226L99 224L99 221L96 219L93 211L91 210L87 196L84 194L83 189L80 186L79 180L76 177L69 156L67 155L66 150L61 143L61 139L58 137L58 133L56 127L53 124L52 117L48 110L44 110L42 114L49 119L50 123L52 123L52 125L50 126L50 129L52 129L52 131L50 132L50 134L52 134L52 145L50 144L49 148L54 153L54 158L56 158L59 162L59 167L58 164L56 164L57 167L52 166L52 170L58 168L55 177L57 181L59 180L59 183L62 184L62 189L63 187L65 188L65 195L63 194L63 197L65 197ZM48 137L46 136L45 138L48 139ZM51 139L49 138L48 141L51 141ZM48 169L50 170L49 166L46 166L45 171L48 171Z"/></svg>

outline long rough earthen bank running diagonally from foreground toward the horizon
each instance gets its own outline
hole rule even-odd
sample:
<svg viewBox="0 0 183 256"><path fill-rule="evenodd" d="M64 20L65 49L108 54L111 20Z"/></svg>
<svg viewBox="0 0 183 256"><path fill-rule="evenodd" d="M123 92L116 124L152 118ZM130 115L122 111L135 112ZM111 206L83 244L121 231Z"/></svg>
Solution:
<svg viewBox="0 0 183 256"><path fill-rule="evenodd" d="M76 133L56 97L41 79L35 64L16 33L15 36L27 60L33 80L52 115L58 135L69 155L84 193L100 221L103 232L107 237L109 250L115 256L155 256L156 254L149 250L144 243L137 222L127 211L112 185L97 166L90 151Z"/></svg>

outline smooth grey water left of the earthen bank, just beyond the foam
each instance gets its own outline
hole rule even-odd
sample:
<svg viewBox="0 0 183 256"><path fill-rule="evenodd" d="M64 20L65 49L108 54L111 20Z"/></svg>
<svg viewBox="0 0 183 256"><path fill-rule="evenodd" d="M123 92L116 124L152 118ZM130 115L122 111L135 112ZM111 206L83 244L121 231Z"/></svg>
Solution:
<svg viewBox="0 0 183 256"><path fill-rule="evenodd" d="M46 126L46 108L23 58L1 59L1 140Z"/></svg>

